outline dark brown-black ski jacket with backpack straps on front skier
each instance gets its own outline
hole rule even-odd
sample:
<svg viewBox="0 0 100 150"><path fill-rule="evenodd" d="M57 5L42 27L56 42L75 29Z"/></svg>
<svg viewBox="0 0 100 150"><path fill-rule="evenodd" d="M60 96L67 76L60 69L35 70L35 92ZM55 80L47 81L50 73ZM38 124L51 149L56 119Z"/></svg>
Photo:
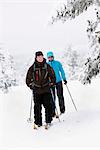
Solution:
<svg viewBox="0 0 100 150"><path fill-rule="evenodd" d="M56 77L54 70L46 63L46 59L42 63L35 60L26 75L27 86L36 93L42 94L50 92L50 86L55 85L55 83Z"/></svg>

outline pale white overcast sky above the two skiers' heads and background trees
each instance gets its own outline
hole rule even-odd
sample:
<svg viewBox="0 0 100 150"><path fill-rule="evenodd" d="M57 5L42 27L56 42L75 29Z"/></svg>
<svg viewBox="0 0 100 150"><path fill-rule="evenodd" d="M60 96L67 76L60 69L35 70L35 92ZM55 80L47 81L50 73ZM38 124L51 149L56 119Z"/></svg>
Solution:
<svg viewBox="0 0 100 150"><path fill-rule="evenodd" d="M73 21L48 21L57 0L0 0L0 43L14 55L31 55L33 50L61 51L66 46L81 47L88 44L84 13ZM87 16L87 18L86 18Z"/></svg>

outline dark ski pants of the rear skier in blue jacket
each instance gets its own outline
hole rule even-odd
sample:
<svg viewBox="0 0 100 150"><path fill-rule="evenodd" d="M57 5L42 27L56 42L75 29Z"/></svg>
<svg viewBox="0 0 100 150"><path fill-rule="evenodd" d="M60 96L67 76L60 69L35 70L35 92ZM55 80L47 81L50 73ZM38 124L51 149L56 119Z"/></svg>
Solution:
<svg viewBox="0 0 100 150"><path fill-rule="evenodd" d="M59 107L60 107L60 112L64 113L65 112L65 102L64 102L64 96L63 96L63 85L62 81L56 83L55 87L52 87L53 91L53 101L54 101L54 107L55 107L55 100L56 100L56 93L55 89L57 91L57 96L58 96L58 101L59 101Z"/></svg>

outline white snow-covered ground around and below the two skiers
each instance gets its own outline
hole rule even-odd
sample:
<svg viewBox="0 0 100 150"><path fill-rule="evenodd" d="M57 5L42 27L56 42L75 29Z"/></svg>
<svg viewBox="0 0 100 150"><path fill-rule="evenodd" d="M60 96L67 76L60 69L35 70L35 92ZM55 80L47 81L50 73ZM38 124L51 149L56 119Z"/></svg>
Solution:
<svg viewBox="0 0 100 150"><path fill-rule="evenodd" d="M100 146L99 86L100 79L93 80L87 86L77 81L68 83L78 109L76 112L64 85L66 113L60 117L61 122L54 119L49 130L41 127L37 131L32 128L33 123L27 122L31 91L22 86L14 87L8 94L0 93L0 148L62 149Z"/></svg>

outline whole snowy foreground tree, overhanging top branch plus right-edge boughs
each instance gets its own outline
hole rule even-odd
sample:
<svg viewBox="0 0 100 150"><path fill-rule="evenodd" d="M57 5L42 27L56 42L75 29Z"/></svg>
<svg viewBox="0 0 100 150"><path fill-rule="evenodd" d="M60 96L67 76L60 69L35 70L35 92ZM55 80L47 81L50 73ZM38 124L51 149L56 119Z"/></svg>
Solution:
<svg viewBox="0 0 100 150"><path fill-rule="evenodd" d="M61 20L74 19L86 11L88 7L95 5L96 20L88 20L87 36L90 43L90 56L84 63L81 81L91 83L91 79L100 72L100 0L65 0L60 9L57 9L55 16L52 16L51 23Z"/></svg>

